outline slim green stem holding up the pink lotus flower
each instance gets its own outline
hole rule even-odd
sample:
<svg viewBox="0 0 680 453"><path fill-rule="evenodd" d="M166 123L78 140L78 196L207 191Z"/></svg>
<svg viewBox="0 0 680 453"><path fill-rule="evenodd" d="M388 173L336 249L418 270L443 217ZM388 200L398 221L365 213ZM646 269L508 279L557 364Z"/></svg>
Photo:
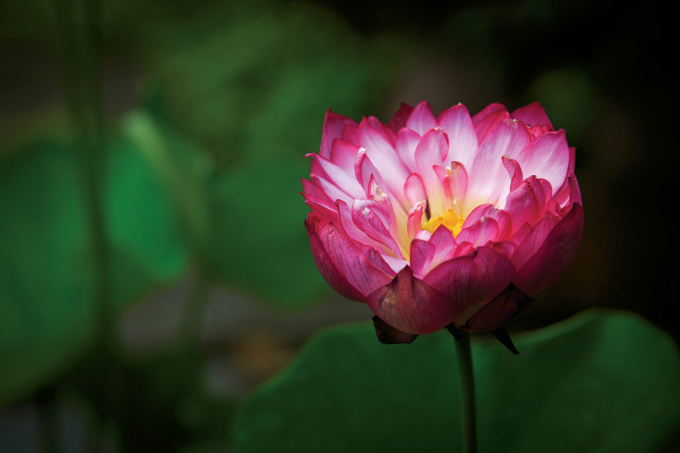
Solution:
<svg viewBox="0 0 680 453"><path fill-rule="evenodd" d="M463 395L463 452L477 453L477 418L475 415L475 376L472 372L470 333L460 331L455 342L460 370L460 389Z"/></svg>

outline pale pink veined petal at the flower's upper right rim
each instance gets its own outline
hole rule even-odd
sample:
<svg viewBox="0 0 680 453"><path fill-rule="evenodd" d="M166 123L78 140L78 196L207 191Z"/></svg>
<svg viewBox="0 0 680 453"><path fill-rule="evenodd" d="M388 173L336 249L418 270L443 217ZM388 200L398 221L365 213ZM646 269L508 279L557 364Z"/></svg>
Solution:
<svg viewBox="0 0 680 453"><path fill-rule="evenodd" d="M518 150L519 151L519 150ZM531 147L521 152L508 153L522 166L524 176L536 175L550 182L553 195L567 180L569 170L569 146L564 130L548 132L533 141Z"/></svg>

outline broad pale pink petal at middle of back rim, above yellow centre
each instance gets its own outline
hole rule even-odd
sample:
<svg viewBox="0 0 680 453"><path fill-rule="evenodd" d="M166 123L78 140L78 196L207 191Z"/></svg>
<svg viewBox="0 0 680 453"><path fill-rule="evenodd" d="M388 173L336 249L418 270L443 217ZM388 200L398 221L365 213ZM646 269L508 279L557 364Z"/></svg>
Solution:
<svg viewBox="0 0 680 453"><path fill-rule="evenodd" d="M475 158L479 141L470 113L463 104L454 105L439 114L439 126L448 134L448 155L445 162L459 161L466 168Z"/></svg>

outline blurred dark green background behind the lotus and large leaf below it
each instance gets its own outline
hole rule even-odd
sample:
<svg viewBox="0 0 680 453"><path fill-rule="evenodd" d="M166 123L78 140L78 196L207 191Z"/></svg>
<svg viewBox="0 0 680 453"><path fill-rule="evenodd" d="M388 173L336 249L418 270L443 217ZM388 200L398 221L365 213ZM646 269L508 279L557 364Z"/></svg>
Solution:
<svg viewBox="0 0 680 453"><path fill-rule="evenodd" d="M540 101L585 231L510 330L599 306L677 340L673 28L653 2L2 2L0 451L231 451L254 386L370 318L302 226L327 108Z"/></svg>

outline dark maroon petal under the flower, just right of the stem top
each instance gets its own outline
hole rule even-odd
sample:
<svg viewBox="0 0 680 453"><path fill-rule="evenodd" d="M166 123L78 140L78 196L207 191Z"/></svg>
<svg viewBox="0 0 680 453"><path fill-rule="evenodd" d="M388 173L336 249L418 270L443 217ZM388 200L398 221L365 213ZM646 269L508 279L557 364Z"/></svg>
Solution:
<svg viewBox="0 0 680 453"><path fill-rule="evenodd" d="M519 288L510 285L504 292L482 306L467 319L462 328L468 332L490 332L504 326L533 304L533 299Z"/></svg>

